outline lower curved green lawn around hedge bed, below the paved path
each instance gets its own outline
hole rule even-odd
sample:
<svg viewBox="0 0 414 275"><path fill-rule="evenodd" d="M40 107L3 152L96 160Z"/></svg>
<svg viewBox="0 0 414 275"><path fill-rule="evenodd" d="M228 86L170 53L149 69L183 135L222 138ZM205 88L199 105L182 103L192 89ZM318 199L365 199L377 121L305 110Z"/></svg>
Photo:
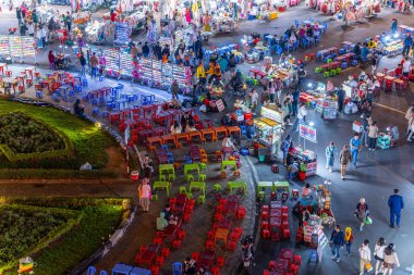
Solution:
<svg viewBox="0 0 414 275"><path fill-rule="evenodd" d="M122 210L122 199L99 199L99 198L29 198L29 199L0 199L4 203L0 208L4 211L8 209L14 209L19 212L21 218L15 222L17 224L31 224L32 227L45 227L48 224L48 228L64 227L64 222L73 222L74 215L76 215L75 224L68 227L69 229L64 234L59 235L58 238L53 238L52 230L49 230L48 237L53 239L52 242L48 242L42 249L31 252L28 246L23 248L21 251L16 251L16 246L7 245L2 247L3 251L12 250L16 257L13 263L23 255L31 255L35 262L35 273L36 274L47 274L47 275L60 275L65 274L76 266L80 262L90 257L102 243L108 239L110 234L119 226L123 210ZM9 203L20 203L20 204L9 204ZM28 210L38 210L31 212ZM3 211L3 212L4 212ZM9 212L7 212L9 216ZM24 215L22 213L25 213ZM41 214L39 214L41 213ZM54 214L52 214L54 213ZM33 222L36 216L41 216L42 220L38 222ZM44 223L45 222L45 223ZM50 223L49 223L50 222ZM53 223L51 223L53 222ZM7 223L7 221L4 221ZM59 229L59 228L58 228ZM39 232L40 229L34 229L34 232ZM0 229L1 234L1 229ZM4 232L5 235L9 233ZM14 233L13 233L14 234ZM14 234L15 239L24 239L36 241L36 236L31 232L16 230ZM26 250L25 250L26 249ZM0 250L0 257L1 252ZM10 263L10 258L8 259ZM10 265L10 264L9 264ZM5 264L3 263L3 266ZM17 264L13 264L13 267L8 267L4 274L15 274ZM0 273L2 270L2 263L0 262Z"/></svg>

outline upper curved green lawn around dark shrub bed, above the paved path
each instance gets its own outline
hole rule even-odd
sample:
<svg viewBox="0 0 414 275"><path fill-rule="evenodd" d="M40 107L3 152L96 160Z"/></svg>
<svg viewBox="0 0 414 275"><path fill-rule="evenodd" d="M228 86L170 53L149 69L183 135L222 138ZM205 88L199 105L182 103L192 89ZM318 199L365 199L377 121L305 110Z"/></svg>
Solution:
<svg viewBox="0 0 414 275"><path fill-rule="evenodd" d="M117 146L104 130L72 114L53 108L35 107L0 99L0 116L13 112L22 112L61 130L73 143L75 154L73 158L61 160L21 161L17 163L9 162L5 155L0 154L0 168L78 170L81 165L89 162L93 168L100 170L108 162L105 149Z"/></svg>

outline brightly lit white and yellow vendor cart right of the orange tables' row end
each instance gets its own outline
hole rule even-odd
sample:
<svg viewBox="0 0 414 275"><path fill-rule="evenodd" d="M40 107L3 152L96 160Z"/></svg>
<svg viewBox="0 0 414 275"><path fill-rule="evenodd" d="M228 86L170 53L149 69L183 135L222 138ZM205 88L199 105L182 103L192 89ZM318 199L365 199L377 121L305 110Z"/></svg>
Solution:
<svg viewBox="0 0 414 275"><path fill-rule="evenodd" d="M255 128L259 143L277 153L283 135L283 112L276 104L261 107L260 117L255 118Z"/></svg>

